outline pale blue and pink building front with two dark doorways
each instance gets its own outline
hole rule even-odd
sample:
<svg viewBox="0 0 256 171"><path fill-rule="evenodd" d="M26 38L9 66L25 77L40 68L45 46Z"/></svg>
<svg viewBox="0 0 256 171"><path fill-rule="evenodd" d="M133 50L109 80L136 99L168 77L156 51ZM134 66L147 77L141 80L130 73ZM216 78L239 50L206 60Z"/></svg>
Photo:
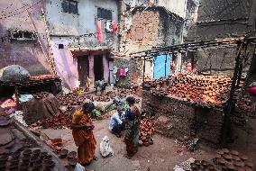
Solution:
<svg viewBox="0 0 256 171"><path fill-rule="evenodd" d="M109 54L118 49L118 2L47 0L46 16L57 72L67 85L109 82Z"/></svg>

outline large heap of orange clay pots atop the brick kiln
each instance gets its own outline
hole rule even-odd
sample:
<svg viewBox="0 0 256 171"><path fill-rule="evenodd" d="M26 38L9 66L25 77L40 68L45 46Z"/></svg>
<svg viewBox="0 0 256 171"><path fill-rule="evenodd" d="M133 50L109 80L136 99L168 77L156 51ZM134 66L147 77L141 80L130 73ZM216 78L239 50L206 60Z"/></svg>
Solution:
<svg viewBox="0 0 256 171"><path fill-rule="evenodd" d="M227 76L201 76L195 74L178 74L168 78L146 82L151 86L151 93L160 97L172 95L203 105L224 105L229 98L232 79ZM241 93L241 81L236 96ZM251 111L248 98L237 98L237 105Z"/></svg>

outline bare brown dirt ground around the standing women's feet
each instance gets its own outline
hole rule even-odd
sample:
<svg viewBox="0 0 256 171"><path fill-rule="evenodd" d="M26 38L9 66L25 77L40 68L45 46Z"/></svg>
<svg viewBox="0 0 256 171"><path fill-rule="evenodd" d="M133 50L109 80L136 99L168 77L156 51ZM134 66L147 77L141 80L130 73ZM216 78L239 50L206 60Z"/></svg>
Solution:
<svg viewBox="0 0 256 171"><path fill-rule="evenodd" d="M200 148L196 152L190 153L187 149L179 147L175 143L175 139L169 139L159 134L153 136L154 144L150 147L139 148L138 153L132 158L124 157L125 146L123 138L116 138L108 130L108 120L95 121L95 136L97 139L96 157L99 159L93 161L87 166L87 170L91 171L169 171L177 164L187 160L190 157L195 159L211 160L215 156L215 150L210 148ZM69 150L77 150L74 144L71 130L41 130L50 138L61 137L63 139L64 148ZM107 135L110 139L110 145L114 148L113 157L101 157L99 154L99 143L103 137ZM178 154L178 150L183 152Z"/></svg>

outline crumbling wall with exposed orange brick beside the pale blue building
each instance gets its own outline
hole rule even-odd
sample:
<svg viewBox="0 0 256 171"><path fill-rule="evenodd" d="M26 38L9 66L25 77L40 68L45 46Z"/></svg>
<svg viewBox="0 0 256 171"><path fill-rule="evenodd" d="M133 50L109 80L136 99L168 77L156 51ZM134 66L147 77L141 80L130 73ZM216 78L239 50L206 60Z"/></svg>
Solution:
<svg viewBox="0 0 256 171"><path fill-rule="evenodd" d="M137 7L133 13L122 14L120 23L120 51L124 53L181 42L183 21L162 7Z"/></svg>

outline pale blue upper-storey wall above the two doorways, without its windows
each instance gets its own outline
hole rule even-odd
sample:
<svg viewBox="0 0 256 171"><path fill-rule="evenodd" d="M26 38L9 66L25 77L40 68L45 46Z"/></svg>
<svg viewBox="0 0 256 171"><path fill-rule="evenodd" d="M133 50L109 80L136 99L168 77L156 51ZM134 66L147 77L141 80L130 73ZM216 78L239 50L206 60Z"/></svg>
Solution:
<svg viewBox="0 0 256 171"><path fill-rule="evenodd" d="M54 36L72 36L69 47L81 49L117 49L118 39L113 32L105 32L105 21L102 21L102 31L105 40L96 40L97 7L112 11L113 21L118 23L118 4L115 0L80 0L78 1L78 14L62 12L61 0L46 1L47 19L50 25L50 34ZM76 38L75 36L95 33L95 36ZM79 40L79 41L78 41ZM79 43L78 43L79 42Z"/></svg>

